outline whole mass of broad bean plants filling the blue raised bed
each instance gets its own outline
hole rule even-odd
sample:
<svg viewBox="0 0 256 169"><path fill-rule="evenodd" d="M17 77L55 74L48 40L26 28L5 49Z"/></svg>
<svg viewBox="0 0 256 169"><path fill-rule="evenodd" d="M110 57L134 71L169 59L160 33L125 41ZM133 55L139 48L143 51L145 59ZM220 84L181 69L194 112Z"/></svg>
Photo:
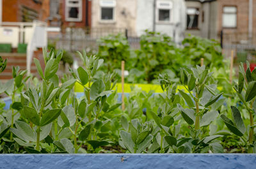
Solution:
<svg viewBox="0 0 256 169"><path fill-rule="evenodd" d="M0 102L1 153L256 150L256 70L251 72L248 63L228 85L233 91L218 86L205 66L184 67L179 76L159 75L161 93L133 87L122 109L116 73L102 75L103 59L77 52L80 66L60 78L63 52L44 49L43 55L45 66L34 59L40 79L13 67L13 78L1 82L1 96L12 99L8 110ZM7 62L0 57L0 73ZM75 85L83 86L83 94L75 92Z"/></svg>

